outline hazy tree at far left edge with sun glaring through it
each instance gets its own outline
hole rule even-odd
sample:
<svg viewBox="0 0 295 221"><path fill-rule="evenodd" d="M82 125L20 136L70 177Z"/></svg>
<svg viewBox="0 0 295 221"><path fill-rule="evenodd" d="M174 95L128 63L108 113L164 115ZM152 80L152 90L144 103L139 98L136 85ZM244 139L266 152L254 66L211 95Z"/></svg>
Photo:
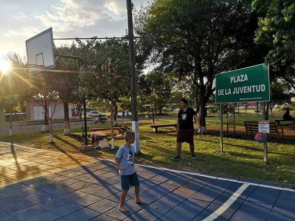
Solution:
<svg viewBox="0 0 295 221"><path fill-rule="evenodd" d="M7 59L12 62L12 67L7 76L0 72L0 111L10 113L9 136L12 136L12 114L29 98L29 73L24 68L25 58L16 53L9 53Z"/></svg>

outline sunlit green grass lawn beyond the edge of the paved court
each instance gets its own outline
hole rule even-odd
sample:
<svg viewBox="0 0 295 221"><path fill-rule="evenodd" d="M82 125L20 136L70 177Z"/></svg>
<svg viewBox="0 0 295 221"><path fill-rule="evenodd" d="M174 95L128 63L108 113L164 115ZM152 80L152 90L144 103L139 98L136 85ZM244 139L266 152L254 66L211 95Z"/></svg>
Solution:
<svg viewBox="0 0 295 221"><path fill-rule="evenodd" d="M256 116L257 117L257 116ZM255 116L250 117L256 120ZM260 117L257 117L259 119ZM240 119L243 125L245 118ZM175 122L173 116L163 117L157 123ZM224 152L220 152L218 135L195 135L195 152L197 160L190 158L188 144L184 143L181 151L181 161L172 161L176 154L176 134L154 134L149 127L150 121L140 121L141 154L138 158L145 163L158 166L186 168L204 173L213 173L234 177L254 178L295 186L295 140L283 139L276 143L271 139L267 143L268 163L263 160L263 145L253 138L224 138ZM208 125L219 125L217 117L207 117ZM99 125L99 127L108 125ZM130 125L128 125L130 126ZM93 125L91 127L98 127ZM166 128L167 129L167 128ZM171 128L172 129L172 128ZM163 129L165 130L165 129ZM168 128L169 130L169 128ZM71 129L79 133L80 128ZM81 140L72 136L64 136L63 130L54 131L55 144L48 143L48 134L42 132L18 133L13 137L0 134L0 141L31 144L37 148L58 149L65 152L77 153ZM124 140L116 140L116 150ZM283 143L282 143L283 142ZM98 151L91 151L89 156L98 156ZM102 156L114 157L116 151L102 150Z"/></svg>

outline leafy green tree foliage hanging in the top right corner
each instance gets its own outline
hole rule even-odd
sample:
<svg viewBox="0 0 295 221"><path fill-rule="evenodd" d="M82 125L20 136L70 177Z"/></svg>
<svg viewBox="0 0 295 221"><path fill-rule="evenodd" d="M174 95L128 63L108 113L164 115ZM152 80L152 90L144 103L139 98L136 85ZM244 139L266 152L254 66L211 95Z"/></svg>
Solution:
<svg viewBox="0 0 295 221"><path fill-rule="evenodd" d="M295 2L294 0L253 0L259 15L255 42L269 47L266 62L295 89Z"/></svg>

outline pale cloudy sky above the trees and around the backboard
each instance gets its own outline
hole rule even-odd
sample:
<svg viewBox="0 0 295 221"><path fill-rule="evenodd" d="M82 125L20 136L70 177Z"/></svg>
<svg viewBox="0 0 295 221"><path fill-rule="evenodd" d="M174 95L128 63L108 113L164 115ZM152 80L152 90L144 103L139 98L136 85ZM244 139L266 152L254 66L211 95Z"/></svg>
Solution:
<svg viewBox="0 0 295 221"><path fill-rule="evenodd" d="M133 4L139 11L149 3ZM25 41L50 27L54 38L120 37L127 29L126 0L0 0L0 5L0 56L26 55ZM72 41L54 43L58 47Z"/></svg>

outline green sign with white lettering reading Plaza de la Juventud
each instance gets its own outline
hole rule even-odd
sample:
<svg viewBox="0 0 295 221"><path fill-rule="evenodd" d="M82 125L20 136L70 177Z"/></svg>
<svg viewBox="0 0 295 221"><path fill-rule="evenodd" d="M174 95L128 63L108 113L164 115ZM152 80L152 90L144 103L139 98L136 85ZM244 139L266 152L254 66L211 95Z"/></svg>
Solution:
<svg viewBox="0 0 295 221"><path fill-rule="evenodd" d="M269 101L269 69L266 64L216 75L216 103Z"/></svg>

